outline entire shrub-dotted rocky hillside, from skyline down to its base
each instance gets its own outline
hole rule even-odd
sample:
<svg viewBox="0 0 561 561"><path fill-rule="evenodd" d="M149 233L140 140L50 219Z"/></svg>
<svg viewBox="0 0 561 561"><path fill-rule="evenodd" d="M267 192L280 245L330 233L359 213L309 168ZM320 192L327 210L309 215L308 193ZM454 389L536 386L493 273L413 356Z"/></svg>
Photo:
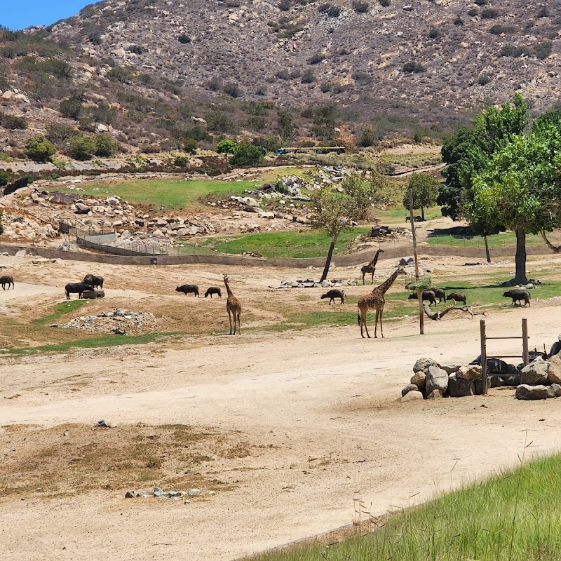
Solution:
<svg viewBox="0 0 561 561"><path fill-rule="evenodd" d="M558 4L105 0L0 29L0 163L39 133L56 157L100 133L130 154L238 134L369 146L438 139L515 90L545 111L561 93Z"/></svg>

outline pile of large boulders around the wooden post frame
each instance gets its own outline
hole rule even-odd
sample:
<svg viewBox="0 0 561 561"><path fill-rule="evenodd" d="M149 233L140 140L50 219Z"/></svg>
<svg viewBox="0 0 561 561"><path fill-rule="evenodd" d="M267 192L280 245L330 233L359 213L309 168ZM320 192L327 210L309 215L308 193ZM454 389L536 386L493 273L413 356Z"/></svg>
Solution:
<svg viewBox="0 0 561 561"><path fill-rule="evenodd" d="M560 397L561 356L555 353L546 358L545 353L532 354L534 360L526 366L487 358L489 387L513 386L516 388L515 397L525 400ZM413 366L410 384L401 391L401 400L463 398L482 393L480 357L468 365L447 365L432 358L419 358Z"/></svg>

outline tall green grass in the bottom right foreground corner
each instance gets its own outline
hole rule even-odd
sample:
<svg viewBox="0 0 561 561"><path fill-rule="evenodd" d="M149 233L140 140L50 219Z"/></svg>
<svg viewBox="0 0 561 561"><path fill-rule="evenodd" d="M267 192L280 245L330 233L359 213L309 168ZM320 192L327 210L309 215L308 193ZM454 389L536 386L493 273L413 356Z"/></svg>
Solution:
<svg viewBox="0 0 561 561"><path fill-rule="evenodd" d="M557 561L561 455L536 459L434 501L389 515L381 527L332 546L313 543L253 561Z"/></svg>

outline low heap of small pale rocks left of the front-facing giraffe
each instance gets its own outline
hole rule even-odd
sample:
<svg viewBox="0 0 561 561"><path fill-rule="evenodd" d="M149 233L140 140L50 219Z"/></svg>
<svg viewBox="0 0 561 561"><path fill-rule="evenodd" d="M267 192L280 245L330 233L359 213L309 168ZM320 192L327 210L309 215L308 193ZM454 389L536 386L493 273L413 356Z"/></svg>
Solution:
<svg viewBox="0 0 561 561"><path fill-rule="evenodd" d="M114 311L102 311L97 316L80 316L58 327L126 334L127 330L134 330L138 333L146 330L147 327L154 329L156 325L153 313L117 308Z"/></svg>

